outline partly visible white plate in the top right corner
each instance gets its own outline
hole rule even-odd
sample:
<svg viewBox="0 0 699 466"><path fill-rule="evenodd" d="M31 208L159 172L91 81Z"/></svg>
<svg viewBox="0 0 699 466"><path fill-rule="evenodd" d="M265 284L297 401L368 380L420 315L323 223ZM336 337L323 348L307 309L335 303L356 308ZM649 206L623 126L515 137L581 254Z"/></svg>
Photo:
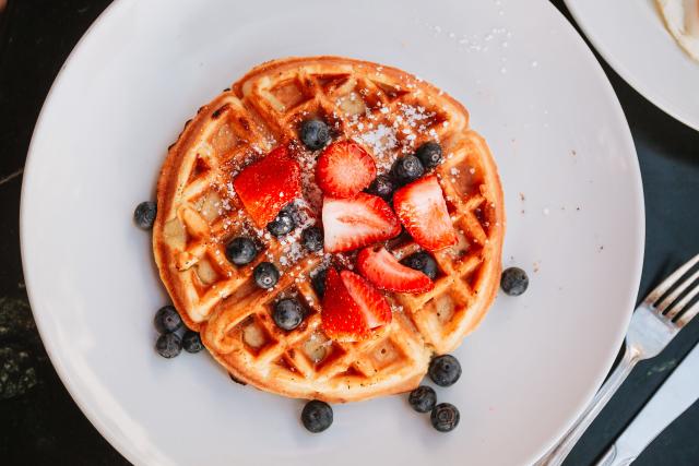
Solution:
<svg viewBox="0 0 699 466"><path fill-rule="evenodd" d="M699 63L665 28L655 0L565 0L607 63L661 110L699 131Z"/></svg>

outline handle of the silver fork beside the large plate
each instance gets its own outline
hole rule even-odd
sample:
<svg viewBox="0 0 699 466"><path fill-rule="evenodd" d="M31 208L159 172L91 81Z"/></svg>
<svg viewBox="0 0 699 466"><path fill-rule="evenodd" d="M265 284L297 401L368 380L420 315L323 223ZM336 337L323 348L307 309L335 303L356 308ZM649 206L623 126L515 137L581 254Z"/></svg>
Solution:
<svg viewBox="0 0 699 466"><path fill-rule="evenodd" d="M633 367L640 361L640 351L629 345L626 345L624 356L617 365L616 369L609 374L606 382L600 387L600 391L592 402L588 405L580 417L573 422L568 431L558 442L546 452L546 454L536 462L536 466L559 466L572 447L578 443L584 431L590 427L592 421L597 417L602 408L607 404L621 383L629 375Z"/></svg>

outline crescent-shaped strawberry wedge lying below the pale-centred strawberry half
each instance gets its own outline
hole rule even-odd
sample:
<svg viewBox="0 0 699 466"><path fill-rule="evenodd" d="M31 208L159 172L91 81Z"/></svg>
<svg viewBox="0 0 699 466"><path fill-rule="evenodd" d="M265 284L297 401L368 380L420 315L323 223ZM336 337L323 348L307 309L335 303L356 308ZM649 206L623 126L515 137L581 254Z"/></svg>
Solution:
<svg viewBox="0 0 699 466"><path fill-rule="evenodd" d="M357 256L357 270L381 289L399 292L425 292L435 287L424 273L401 264L386 248L369 247Z"/></svg>

